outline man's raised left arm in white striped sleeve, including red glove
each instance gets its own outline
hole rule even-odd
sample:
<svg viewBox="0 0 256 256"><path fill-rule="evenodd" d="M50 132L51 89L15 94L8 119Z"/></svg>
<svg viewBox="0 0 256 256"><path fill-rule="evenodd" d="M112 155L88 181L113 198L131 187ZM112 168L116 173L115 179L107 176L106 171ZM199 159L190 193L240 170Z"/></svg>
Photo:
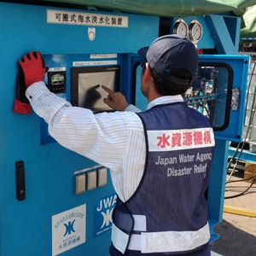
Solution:
<svg viewBox="0 0 256 256"><path fill-rule="evenodd" d="M19 68L24 74L26 97L34 111L49 124L49 134L62 146L118 172L128 138L125 114L95 115L55 96L43 82L46 67L39 52L24 55Z"/></svg>

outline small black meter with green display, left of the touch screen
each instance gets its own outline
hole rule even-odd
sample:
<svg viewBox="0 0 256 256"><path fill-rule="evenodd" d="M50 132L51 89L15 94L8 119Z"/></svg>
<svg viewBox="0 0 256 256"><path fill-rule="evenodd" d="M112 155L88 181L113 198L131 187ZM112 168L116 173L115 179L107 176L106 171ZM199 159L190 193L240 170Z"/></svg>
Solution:
<svg viewBox="0 0 256 256"><path fill-rule="evenodd" d="M66 92L66 71L48 72L48 87L54 93Z"/></svg>

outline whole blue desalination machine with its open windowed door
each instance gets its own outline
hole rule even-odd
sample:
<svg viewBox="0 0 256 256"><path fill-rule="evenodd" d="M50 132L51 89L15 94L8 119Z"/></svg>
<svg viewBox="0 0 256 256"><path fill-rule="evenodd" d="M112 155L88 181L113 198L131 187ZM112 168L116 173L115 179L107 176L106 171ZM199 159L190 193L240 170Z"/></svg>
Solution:
<svg viewBox="0 0 256 256"><path fill-rule="evenodd" d="M16 63L26 52L39 50L49 67L45 76L49 90L77 106L79 77L90 74L91 83L95 83L95 76L108 73L113 88L143 109L146 102L140 93L136 53L158 37L160 19L16 3L0 3L0 7L0 254L108 255L116 199L109 174L106 179L104 166L55 143L35 113L12 113ZM202 19L191 19L195 18ZM231 19L237 25L237 18ZM211 29L216 28L213 25L224 21L229 25L227 20L211 15L202 20L207 37L199 41L198 48L214 49L218 44L218 49L230 50L219 45L223 35L211 37ZM228 43L235 48L234 37ZM248 67L247 56L225 55L228 50L218 53L224 55L200 57L199 75L207 79L212 70L218 73L215 90L186 98L191 108L197 104L202 113L210 111L218 130L207 195L212 241L217 236L213 227L222 219L228 141L240 141L242 136ZM230 108L232 102L237 103L234 89L239 91L236 110Z"/></svg>

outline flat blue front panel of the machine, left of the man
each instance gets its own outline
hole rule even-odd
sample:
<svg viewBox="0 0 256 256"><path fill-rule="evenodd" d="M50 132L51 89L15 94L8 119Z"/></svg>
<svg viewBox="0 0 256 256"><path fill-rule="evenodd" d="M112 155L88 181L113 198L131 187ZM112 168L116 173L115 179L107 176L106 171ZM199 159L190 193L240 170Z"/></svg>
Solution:
<svg viewBox="0 0 256 256"><path fill-rule="evenodd" d="M94 170L98 172L102 167L58 143L49 143L51 139L44 130L45 125L35 113L22 115L12 112L17 61L28 51L39 50L49 67L65 67L67 90L59 96L70 100L70 68L73 61L96 61L90 58L90 54L116 54L114 59L107 55L100 61L117 62L120 66L120 90L131 99L132 55L136 55L137 49L157 38L159 18L113 12L84 12L78 9L63 10L128 17L128 27L96 26L96 38L90 40L88 26L47 23L47 9L56 9L56 14L60 9L14 3L0 3L0 8L0 30L3 38L0 42L3 49L0 56L0 254L48 256L57 255L55 250L59 250L60 253L63 252L63 256L108 255L110 218L107 213L112 211L114 205L110 177L108 175L106 186L80 195L74 194L73 183L78 175ZM25 166L24 201L16 200L15 162L20 160L24 161ZM83 171L89 167L92 169ZM78 172L80 170L82 171ZM76 210L79 212L73 212ZM59 213L62 214L58 215ZM74 216L77 217L76 221L83 218L86 223L83 238L85 242L77 247L75 245L79 244L82 237L76 236L78 227L76 222L73 223ZM64 229L65 224L67 230L63 230L60 235L63 236L62 244L54 250L54 230L59 226ZM68 239L65 233L71 234Z"/></svg>

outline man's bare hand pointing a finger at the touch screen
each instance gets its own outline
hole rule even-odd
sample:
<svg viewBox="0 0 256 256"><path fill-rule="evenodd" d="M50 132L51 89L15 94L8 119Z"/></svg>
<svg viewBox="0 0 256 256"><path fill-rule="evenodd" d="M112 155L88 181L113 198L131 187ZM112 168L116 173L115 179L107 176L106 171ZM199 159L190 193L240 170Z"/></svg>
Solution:
<svg viewBox="0 0 256 256"><path fill-rule="evenodd" d="M108 92L108 98L103 100L108 107L119 111L124 111L125 108L128 107L129 104L126 102L125 96L123 96L119 91L114 92L104 85L102 85L102 88Z"/></svg>

